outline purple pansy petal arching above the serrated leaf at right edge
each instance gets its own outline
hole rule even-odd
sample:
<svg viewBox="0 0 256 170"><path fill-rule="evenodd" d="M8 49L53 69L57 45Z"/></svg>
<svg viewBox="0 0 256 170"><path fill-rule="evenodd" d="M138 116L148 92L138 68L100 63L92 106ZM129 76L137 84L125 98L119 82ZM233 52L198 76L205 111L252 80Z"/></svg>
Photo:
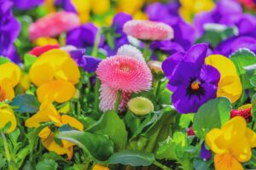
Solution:
<svg viewBox="0 0 256 170"><path fill-rule="evenodd" d="M214 54L223 54L229 57L230 54L233 54L239 48L248 48L253 53L256 53L256 38L248 36L230 37L218 44L214 49Z"/></svg>

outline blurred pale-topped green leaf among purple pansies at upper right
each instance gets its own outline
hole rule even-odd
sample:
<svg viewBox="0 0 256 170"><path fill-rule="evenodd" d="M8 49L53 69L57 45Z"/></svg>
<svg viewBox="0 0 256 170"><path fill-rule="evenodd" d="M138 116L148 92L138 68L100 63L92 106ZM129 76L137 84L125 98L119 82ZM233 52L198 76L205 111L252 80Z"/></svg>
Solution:
<svg viewBox="0 0 256 170"><path fill-rule="evenodd" d="M204 26L204 30L204 35L196 40L196 42L209 42L213 48L228 37L238 35L236 26L227 27L219 24L207 24Z"/></svg>

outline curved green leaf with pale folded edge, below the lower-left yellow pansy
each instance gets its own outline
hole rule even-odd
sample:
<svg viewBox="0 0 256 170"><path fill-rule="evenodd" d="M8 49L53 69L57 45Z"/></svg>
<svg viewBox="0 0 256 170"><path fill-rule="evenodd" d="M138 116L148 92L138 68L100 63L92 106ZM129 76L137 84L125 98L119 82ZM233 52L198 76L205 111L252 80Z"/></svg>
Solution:
<svg viewBox="0 0 256 170"><path fill-rule="evenodd" d="M71 130L59 133L57 138L77 144L95 161L106 161L113 154L113 142L101 134Z"/></svg>

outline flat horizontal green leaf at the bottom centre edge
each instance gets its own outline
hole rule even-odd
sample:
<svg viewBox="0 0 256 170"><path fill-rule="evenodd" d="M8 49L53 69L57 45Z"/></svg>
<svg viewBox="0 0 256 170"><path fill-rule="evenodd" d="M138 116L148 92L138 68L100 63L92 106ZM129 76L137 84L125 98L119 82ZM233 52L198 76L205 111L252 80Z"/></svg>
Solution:
<svg viewBox="0 0 256 170"><path fill-rule="evenodd" d="M154 162L154 154L139 150L123 150L109 157L108 164L149 166Z"/></svg>

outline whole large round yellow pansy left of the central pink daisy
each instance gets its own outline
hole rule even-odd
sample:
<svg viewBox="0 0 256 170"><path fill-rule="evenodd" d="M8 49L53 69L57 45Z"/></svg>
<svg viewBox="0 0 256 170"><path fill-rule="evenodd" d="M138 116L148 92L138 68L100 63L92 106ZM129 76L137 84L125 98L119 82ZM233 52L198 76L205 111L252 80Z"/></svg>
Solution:
<svg viewBox="0 0 256 170"><path fill-rule="evenodd" d="M74 96L74 84L79 82L80 72L67 52L52 49L38 57L29 71L29 77L38 86L40 102L49 99L62 103Z"/></svg>

